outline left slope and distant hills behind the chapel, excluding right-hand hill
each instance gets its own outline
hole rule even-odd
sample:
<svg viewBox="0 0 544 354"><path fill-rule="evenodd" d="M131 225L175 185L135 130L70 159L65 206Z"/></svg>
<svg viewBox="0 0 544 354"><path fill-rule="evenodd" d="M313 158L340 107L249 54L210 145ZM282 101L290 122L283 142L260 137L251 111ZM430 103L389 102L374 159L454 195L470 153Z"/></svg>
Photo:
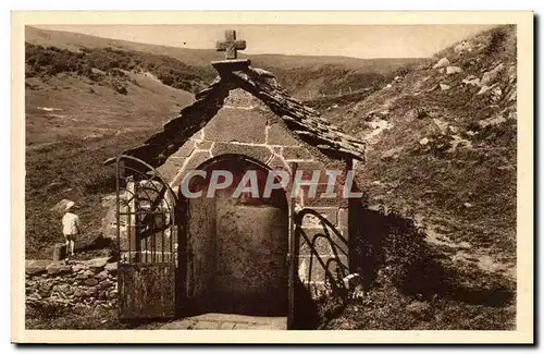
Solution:
<svg viewBox="0 0 544 354"><path fill-rule="evenodd" d="M58 237L62 198L82 200L88 237L99 234L100 195L113 187L101 162L138 144L212 82L214 50L112 40L26 27L26 216L28 255ZM323 99L375 90L404 59L252 56L295 95ZM89 154L90 152L90 154Z"/></svg>

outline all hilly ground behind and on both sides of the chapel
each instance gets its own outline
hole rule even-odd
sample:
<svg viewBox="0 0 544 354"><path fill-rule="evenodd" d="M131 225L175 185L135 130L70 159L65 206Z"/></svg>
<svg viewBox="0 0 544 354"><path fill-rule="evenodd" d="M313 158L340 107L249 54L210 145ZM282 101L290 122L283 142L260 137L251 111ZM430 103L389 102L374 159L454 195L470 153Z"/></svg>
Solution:
<svg viewBox="0 0 544 354"><path fill-rule="evenodd" d="M368 143L357 164L368 206L357 245L364 293L326 328L511 329L516 28L417 61L249 58ZM27 27L27 257L62 241L51 210L62 198L78 200L86 237L100 234L97 210L115 183L102 161L189 105L214 77L215 59Z"/></svg>

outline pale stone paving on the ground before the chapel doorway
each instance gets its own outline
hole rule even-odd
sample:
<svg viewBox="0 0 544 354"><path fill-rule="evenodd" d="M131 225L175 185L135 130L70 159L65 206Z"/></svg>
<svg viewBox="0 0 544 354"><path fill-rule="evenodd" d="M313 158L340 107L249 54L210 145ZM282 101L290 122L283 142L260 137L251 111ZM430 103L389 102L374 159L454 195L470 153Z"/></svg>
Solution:
<svg viewBox="0 0 544 354"><path fill-rule="evenodd" d="M230 314L203 314L168 322L160 329L286 330L287 318Z"/></svg>

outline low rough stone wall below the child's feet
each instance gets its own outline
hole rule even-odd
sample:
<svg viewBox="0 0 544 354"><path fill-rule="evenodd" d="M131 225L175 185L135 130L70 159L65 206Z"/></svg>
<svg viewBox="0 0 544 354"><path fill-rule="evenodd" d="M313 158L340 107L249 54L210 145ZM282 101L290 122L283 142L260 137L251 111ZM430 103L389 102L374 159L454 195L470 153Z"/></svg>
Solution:
<svg viewBox="0 0 544 354"><path fill-rule="evenodd" d="M118 306L118 264L109 258L26 261L26 304L55 303L75 308Z"/></svg>

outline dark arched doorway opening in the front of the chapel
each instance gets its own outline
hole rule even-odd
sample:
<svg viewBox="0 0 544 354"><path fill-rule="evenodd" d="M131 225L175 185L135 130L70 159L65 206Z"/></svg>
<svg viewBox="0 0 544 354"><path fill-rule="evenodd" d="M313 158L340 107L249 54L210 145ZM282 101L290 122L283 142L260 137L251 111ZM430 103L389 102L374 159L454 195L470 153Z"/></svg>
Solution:
<svg viewBox="0 0 544 354"><path fill-rule="evenodd" d="M187 309L286 316L288 296L288 204L283 190L264 197L268 168L240 155L214 158L198 168L187 199ZM212 171L233 174L228 187L208 197ZM244 175L255 173L258 193L233 196ZM224 182L224 181L220 181Z"/></svg>

